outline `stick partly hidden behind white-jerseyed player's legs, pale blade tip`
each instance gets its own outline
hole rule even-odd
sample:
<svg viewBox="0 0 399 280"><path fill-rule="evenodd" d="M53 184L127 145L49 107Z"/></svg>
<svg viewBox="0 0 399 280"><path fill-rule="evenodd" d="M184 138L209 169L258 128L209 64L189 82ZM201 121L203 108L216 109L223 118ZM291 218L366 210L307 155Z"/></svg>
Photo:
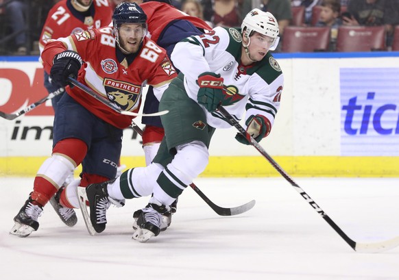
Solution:
<svg viewBox="0 0 399 280"><path fill-rule="evenodd" d="M134 123L134 121L132 121L132 127L140 136L143 136L143 130L141 130L141 128L138 127L136 125L136 123ZM191 183L190 187L193 190L195 190L195 192L199 195L199 197L201 197L206 202L206 204L208 204L210 206L210 208L212 208L213 211L215 211L216 214L218 214L219 216L234 216L234 215L243 214L244 212L247 212L248 210L252 209L252 207L254 207L255 202L256 202L256 201L252 200L250 202L247 202L247 203L237 206L237 207L224 208L224 207L220 207L220 206L216 205L210 199L208 199L208 196L206 196L204 194L204 192L199 190L199 188L197 186L195 186L194 183Z"/></svg>

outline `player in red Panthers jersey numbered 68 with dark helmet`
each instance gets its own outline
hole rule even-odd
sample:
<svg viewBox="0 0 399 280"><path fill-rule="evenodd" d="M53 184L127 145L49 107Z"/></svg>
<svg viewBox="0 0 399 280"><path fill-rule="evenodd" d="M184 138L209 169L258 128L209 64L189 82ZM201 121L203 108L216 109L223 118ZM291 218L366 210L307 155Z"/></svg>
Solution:
<svg viewBox="0 0 399 280"><path fill-rule="evenodd" d="M115 177L123 129L130 126L132 117L68 86L68 77L76 77L125 111L138 112L144 83L154 86L160 98L176 71L166 51L145 37L146 19L135 3L121 3L112 16L113 27L47 42L42 53L45 70L54 84L66 86L67 94L54 118L52 156L40 166L33 191L14 217L11 234L25 237L38 229L43 207L77 165L82 163L80 186ZM66 209L79 207L76 186L70 184L60 193L60 203Z"/></svg>

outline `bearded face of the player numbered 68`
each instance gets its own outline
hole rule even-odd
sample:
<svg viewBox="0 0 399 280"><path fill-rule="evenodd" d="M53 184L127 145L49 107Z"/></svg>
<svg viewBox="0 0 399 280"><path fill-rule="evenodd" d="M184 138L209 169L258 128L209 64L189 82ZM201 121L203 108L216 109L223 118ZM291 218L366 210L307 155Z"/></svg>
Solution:
<svg viewBox="0 0 399 280"><path fill-rule="evenodd" d="M122 51L136 53L144 35L145 28L141 23L123 23L119 27L119 44Z"/></svg>

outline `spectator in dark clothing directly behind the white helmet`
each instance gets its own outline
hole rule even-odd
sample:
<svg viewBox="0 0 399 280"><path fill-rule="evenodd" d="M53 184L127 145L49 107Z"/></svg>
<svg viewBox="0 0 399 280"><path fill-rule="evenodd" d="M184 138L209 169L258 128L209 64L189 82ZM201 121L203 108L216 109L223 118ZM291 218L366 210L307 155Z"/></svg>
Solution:
<svg viewBox="0 0 399 280"><path fill-rule="evenodd" d="M275 52L281 50L282 40L284 36L284 29L287 27L292 19L291 1L290 0L262 0L261 10L263 12L271 12L278 22L278 29L280 36L280 44Z"/></svg>

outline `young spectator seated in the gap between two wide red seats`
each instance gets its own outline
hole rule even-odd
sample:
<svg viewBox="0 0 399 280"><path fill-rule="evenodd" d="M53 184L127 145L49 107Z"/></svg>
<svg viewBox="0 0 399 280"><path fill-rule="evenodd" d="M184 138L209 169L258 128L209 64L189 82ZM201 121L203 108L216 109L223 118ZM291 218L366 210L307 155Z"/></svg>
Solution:
<svg viewBox="0 0 399 280"><path fill-rule="evenodd" d="M320 12L320 21L316 24L316 26L330 27L330 51L335 51L335 47L337 44L338 27L342 25L340 14L341 3L339 0L322 1L322 12Z"/></svg>

